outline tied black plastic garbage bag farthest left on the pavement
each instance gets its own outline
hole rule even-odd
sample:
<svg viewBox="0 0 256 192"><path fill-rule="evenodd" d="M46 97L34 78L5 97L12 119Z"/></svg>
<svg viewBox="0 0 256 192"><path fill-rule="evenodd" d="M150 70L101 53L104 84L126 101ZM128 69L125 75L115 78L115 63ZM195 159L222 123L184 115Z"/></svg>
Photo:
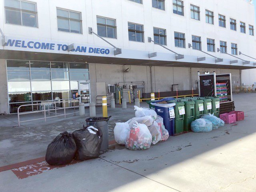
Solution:
<svg viewBox="0 0 256 192"><path fill-rule="evenodd" d="M76 154L76 142L72 134L63 132L48 145L45 160L50 165L70 163Z"/></svg>

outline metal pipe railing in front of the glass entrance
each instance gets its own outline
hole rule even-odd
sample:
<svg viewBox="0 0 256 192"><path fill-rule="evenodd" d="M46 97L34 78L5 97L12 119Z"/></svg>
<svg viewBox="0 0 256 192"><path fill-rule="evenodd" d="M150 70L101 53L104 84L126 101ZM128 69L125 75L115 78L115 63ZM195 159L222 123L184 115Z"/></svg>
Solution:
<svg viewBox="0 0 256 192"><path fill-rule="evenodd" d="M79 112L79 110L76 111L76 108L79 108L79 105L76 105L76 102L79 103L78 100L68 100L68 101L45 102L45 103L21 105L21 106L18 107L18 125L20 126L20 123L22 123L22 122L41 120L41 119L44 119L45 122L46 122L47 118L59 117L59 116L64 116L64 118L66 118L66 115L69 115L69 114L75 114L76 115L76 113ZM58 107L57 105L59 105L59 104L62 104L62 107ZM70 104L70 106L69 106L69 104ZM32 110L32 111L28 111L28 112L20 112L20 108L26 107L26 106L31 106L32 109L34 109L34 106L35 106L36 110ZM66 111L67 109L74 109L74 112L67 113L67 111ZM63 110L64 113L63 114L57 113L57 111L59 112L60 110ZM34 114L34 113L38 113L38 112L42 112L44 117L29 119L29 120L24 120L24 121L20 120L20 115ZM46 116L46 113L48 113L48 116ZM50 116L50 114L55 114L55 115Z"/></svg>

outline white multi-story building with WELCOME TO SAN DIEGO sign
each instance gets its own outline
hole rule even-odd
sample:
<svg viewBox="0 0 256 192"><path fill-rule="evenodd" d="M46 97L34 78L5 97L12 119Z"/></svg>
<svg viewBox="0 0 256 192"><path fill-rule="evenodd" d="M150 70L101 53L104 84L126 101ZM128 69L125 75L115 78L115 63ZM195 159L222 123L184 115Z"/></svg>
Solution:
<svg viewBox="0 0 256 192"><path fill-rule="evenodd" d="M232 73L235 86L242 70L254 68L253 59L239 55L256 57L254 6L245 0L0 2L0 113L69 99L78 88L88 96L84 102L96 102L118 82L138 82L146 93L170 91L174 84L196 89L198 71ZM89 27L122 53L115 55Z"/></svg>

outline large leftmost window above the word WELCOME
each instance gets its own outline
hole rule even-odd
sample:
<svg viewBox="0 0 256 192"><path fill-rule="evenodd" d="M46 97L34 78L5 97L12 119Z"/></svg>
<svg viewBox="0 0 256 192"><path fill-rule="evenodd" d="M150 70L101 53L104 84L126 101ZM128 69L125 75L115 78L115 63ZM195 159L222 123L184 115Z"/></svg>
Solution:
<svg viewBox="0 0 256 192"><path fill-rule="evenodd" d="M5 22L7 24L37 27L36 3L5 0Z"/></svg>

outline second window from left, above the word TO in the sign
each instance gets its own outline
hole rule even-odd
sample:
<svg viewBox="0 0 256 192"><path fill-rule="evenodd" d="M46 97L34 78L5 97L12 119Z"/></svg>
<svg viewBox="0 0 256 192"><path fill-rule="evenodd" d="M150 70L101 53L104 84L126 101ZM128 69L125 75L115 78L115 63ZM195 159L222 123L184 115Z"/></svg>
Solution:
<svg viewBox="0 0 256 192"><path fill-rule="evenodd" d="M82 20L79 12L57 9L58 30L82 34Z"/></svg>

